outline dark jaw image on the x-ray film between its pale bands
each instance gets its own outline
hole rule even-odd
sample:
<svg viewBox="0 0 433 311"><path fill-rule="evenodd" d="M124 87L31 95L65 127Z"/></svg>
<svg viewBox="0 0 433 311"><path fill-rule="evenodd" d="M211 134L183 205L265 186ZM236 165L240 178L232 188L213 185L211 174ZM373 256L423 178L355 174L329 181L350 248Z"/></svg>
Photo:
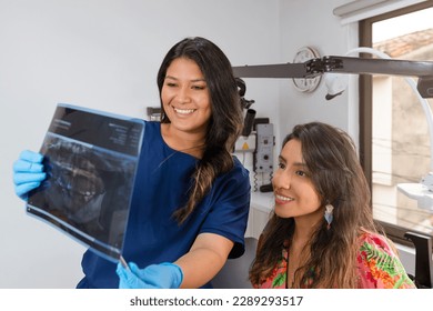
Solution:
<svg viewBox="0 0 433 311"><path fill-rule="evenodd" d="M56 137L46 141L42 151L48 178L30 197L30 203L49 213L51 217L47 219L53 224L79 239L77 230L120 248L129 212L125 193L133 185L133 161Z"/></svg>

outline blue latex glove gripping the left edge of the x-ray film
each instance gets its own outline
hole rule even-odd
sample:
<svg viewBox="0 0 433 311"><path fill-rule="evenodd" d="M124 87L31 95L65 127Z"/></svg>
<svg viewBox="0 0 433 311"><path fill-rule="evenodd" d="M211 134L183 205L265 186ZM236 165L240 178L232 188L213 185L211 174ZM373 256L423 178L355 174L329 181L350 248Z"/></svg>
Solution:
<svg viewBox="0 0 433 311"><path fill-rule="evenodd" d="M24 150L13 163L16 193L22 200L27 200L29 191L38 188L47 177L43 172L42 160L42 154Z"/></svg>

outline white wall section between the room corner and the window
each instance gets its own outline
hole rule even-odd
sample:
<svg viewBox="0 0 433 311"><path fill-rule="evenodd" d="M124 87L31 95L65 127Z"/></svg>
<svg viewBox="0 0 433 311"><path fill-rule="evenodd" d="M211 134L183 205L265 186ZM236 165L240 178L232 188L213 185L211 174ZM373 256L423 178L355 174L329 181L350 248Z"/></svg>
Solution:
<svg viewBox="0 0 433 311"><path fill-rule="evenodd" d="M305 2L312 3L308 7ZM281 58L292 62L296 50L302 47L313 47L322 57L343 56L358 47L358 27L342 27L340 19L332 13L335 7L344 2L350 1L281 1ZM282 80L279 114L282 136L289 133L298 123L323 121L346 130L358 141L355 79L358 78L350 79L351 87L354 84L354 88L331 101L325 100L328 91L323 78L312 93L301 93L294 89L292 81Z"/></svg>

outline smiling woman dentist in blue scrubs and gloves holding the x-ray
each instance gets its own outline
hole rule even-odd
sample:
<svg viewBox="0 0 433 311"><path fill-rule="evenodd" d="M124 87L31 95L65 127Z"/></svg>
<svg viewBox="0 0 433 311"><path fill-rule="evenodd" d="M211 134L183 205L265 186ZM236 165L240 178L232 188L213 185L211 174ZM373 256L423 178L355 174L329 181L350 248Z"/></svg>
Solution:
<svg viewBox="0 0 433 311"><path fill-rule="evenodd" d="M162 118L145 121L123 258L91 249L77 288L211 288L228 258L244 251L249 172L232 156L242 104L225 54L204 38L174 44L158 72ZM16 193L46 179L43 156L26 150L13 165Z"/></svg>

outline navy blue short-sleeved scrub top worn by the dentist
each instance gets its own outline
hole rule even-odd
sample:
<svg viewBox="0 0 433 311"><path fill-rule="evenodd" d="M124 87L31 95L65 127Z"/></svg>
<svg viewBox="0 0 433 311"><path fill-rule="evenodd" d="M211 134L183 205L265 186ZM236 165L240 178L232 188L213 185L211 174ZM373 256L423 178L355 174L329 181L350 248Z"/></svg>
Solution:
<svg viewBox="0 0 433 311"><path fill-rule="evenodd" d="M128 262L135 262L140 268L173 262L185 254L197 235L203 232L233 241L229 258L243 254L251 185L248 170L236 158L234 168L214 180L210 193L181 225L172 217L187 202L198 161L165 144L160 122L145 122L123 242L123 258ZM77 288L119 287L115 263L88 250L81 265L85 277Z"/></svg>

